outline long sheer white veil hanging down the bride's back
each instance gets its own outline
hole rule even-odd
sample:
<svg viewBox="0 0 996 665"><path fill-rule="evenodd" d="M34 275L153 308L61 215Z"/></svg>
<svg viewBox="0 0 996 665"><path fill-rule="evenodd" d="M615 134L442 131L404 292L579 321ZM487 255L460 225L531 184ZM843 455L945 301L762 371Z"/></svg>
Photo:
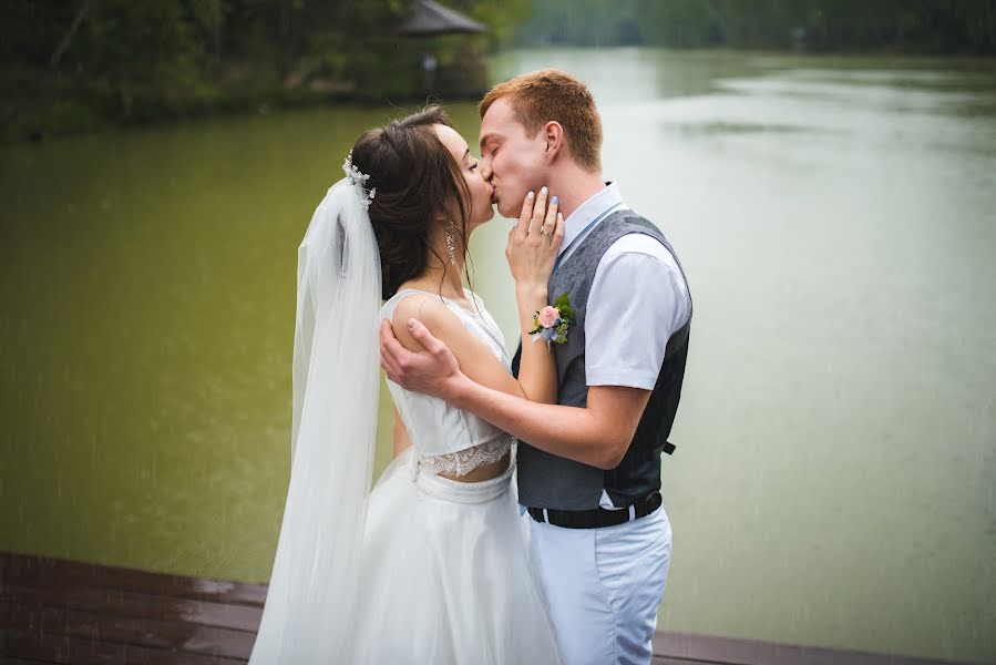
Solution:
<svg viewBox="0 0 996 665"><path fill-rule="evenodd" d="M291 470L249 663L333 663L351 633L380 391L380 256L346 177L298 249Z"/></svg>

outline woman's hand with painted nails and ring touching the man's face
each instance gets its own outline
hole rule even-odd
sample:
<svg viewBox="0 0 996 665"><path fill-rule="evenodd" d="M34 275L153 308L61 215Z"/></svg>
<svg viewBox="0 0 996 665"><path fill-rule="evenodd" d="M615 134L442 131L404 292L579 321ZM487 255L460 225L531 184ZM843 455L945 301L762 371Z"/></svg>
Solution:
<svg viewBox="0 0 996 665"><path fill-rule="evenodd" d="M535 195L530 192L522 203L518 223L509 234L505 258L520 289L546 289L564 239L564 216L557 211L557 197L547 202L547 196L546 187Z"/></svg>

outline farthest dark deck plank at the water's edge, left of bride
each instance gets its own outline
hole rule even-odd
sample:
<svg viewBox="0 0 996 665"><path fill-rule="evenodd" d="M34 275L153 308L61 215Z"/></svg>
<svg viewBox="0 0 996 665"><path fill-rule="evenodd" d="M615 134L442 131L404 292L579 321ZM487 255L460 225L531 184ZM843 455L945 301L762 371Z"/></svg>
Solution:
<svg viewBox="0 0 996 665"><path fill-rule="evenodd" d="M0 552L0 590L4 582L35 587L115 589L220 603L263 606L266 584L185 577L93 563Z"/></svg>

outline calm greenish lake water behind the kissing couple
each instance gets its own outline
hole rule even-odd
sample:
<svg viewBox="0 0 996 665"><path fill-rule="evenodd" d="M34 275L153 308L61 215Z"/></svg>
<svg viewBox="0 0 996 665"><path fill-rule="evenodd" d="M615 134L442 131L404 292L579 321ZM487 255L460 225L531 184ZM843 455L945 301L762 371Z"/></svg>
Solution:
<svg viewBox="0 0 996 665"><path fill-rule="evenodd" d="M695 296L661 627L996 661L996 63L492 70L545 65L591 85L605 175ZM297 245L356 136L411 110L0 147L0 550L268 579ZM507 228L475 235L473 284L514 346Z"/></svg>

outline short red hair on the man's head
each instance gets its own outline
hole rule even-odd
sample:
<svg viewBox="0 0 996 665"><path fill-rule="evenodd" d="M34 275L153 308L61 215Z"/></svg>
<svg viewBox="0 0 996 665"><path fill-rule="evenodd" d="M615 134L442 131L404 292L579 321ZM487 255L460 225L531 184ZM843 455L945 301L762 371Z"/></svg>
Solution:
<svg viewBox="0 0 996 665"><path fill-rule="evenodd" d="M574 161L588 171L602 168L602 119L584 83L557 69L520 74L484 95L478 106L481 117L501 98L509 98L530 135L555 120L564 127Z"/></svg>

